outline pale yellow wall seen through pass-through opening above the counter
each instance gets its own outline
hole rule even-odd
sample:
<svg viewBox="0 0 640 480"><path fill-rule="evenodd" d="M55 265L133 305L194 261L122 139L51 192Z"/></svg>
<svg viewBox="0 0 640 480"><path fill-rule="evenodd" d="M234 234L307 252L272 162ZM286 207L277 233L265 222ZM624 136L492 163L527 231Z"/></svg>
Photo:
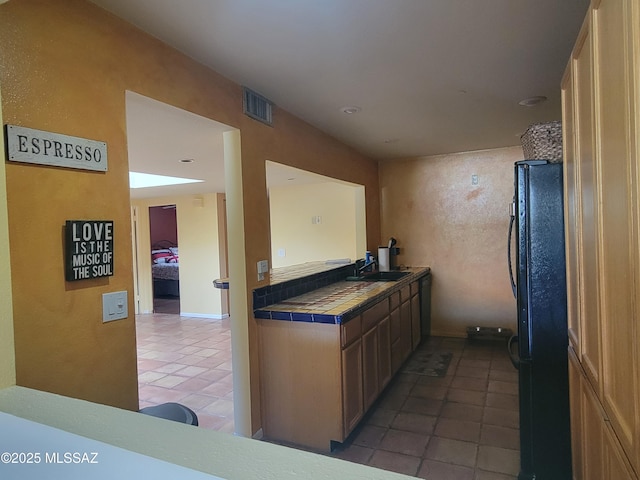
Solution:
<svg viewBox="0 0 640 480"><path fill-rule="evenodd" d="M335 182L269 189L272 266L286 267L317 260L364 257L358 245L357 196L362 187ZM321 222L314 224L313 216ZM285 256L279 256L283 249Z"/></svg>

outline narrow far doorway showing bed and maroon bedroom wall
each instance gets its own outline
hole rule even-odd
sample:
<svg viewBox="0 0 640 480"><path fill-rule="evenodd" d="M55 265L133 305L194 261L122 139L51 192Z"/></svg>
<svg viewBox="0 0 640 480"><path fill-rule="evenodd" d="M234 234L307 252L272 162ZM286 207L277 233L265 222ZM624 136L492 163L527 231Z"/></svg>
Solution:
<svg viewBox="0 0 640 480"><path fill-rule="evenodd" d="M153 312L180 313L180 275L176 205L149 207Z"/></svg>

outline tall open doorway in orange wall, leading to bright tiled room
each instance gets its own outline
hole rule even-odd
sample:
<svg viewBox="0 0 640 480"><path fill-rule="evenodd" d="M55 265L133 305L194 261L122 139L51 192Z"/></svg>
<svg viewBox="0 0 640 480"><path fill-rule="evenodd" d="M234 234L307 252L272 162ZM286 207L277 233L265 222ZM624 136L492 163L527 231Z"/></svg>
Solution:
<svg viewBox="0 0 640 480"><path fill-rule="evenodd" d="M226 229L226 218L221 212L226 213L224 201L227 190L231 194L231 238L238 235L238 226L242 226L242 197L239 190L241 176L236 177L236 174L231 176L231 180L226 179L229 176L226 165L240 163L237 148L239 132L132 92L127 92L126 99L130 170L191 180L190 183L181 185L131 190L136 232L136 318L144 317L147 321L147 326L151 329L149 338L152 339L152 343L160 332L167 333L166 337L175 340L164 351L153 350L155 347L147 349L139 344L139 384L140 389L144 387L144 395L140 395L141 405L143 402L162 403L172 398L173 401L184 401L185 405L193 410L201 410L204 407L210 407L211 410L214 408L211 404L207 406L203 403L213 398L216 408L226 407L224 416L227 420L231 419L233 427L229 430L227 421L224 431L247 435L250 433L248 375L244 378L243 368L239 368L240 373L236 375L235 367L237 363L242 367L248 362L248 345L244 344L245 336L231 334L232 324L235 322L227 318L228 306L227 311L223 312L212 311L210 305L206 305L207 301L215 298L220 298L220 308L223 303L227 305L229 302L226 301L226 292L225 301L222 302L222 292L216 291L213 280L223 276L233 278L234 268L242 272L245 270L244 252L235 252L233 260L229 262L231 273L227 274L224 258L226 255L222 252L226 251L228 244L230 253L234 253L234 250L238 250L236 247L242 249L242 242L227 242L226 230L224 233L219 231L223 228L222 225ZM230 137L231 140L228 140ZM226 145L229 143L236 147L236 151L231 148L231 155L227 154ZM231 185L231 188L227 189L228 185ZM238 189L240 195L235 189ZM170 205L175 205L177 240L179 235L176 248L179 248L178 296L181 315L161 314L161 318L158 318L157 314L153 313L153 242L150 238L149 207ZM243 235L243 229L241 233ZM218 241L218 238L223 240ZM234 265L234 262L237 265ZM189 270L191 273L188 273ZM246 299L246 285L238 285L235 290L241 298ZM231 303L233 301L232 298ZM246 301L243 300L242 303ZM238 310L238 323L246 323L243 322L246 320L246 312ZM169 321L173 322L171 326L167 323ZM171 329L182 336L178 333L168 333ZM199 333L192 335L195 330ZM145 333L138 329L138 335L141 339ZM238 340L233 340L232 336ZM234 371L231 370L232 364ZM216 378L220 374L214 371L221 366L228 368L228 375L224 379ZM185 390L180 392L177 386L191 391L188 395L183 395ZM222 395L222 390L226 388L232 389L232 392ZM229 398L222 398L225 395ZM238 404L240 407L236 408ZM236 421L236 418L240 418L240 421Z"/></svg>

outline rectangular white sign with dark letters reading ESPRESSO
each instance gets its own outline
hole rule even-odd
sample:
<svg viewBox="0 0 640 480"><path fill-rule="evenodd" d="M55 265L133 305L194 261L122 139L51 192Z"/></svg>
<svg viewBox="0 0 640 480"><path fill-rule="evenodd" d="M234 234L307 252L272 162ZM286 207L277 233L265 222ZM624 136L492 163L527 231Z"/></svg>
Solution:
<svg viewBox="0 0 640 480"><path fill-rule="evenodd" d="M107 144L60 133L7 125L7 158L12 162L107 171Z"/></svg>

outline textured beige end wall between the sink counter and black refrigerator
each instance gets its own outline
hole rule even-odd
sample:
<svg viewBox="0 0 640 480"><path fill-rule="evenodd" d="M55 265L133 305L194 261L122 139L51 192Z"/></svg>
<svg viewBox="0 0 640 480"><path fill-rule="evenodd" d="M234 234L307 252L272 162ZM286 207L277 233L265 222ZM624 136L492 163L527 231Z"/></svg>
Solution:
<svg viewBox="0 0 640 480"><path fill-rule="evenodd" d="M516 329L506 249L522 158L509 147L381 163L382 236L398 240L400 263L432 268L432 334Z"/></svg>

